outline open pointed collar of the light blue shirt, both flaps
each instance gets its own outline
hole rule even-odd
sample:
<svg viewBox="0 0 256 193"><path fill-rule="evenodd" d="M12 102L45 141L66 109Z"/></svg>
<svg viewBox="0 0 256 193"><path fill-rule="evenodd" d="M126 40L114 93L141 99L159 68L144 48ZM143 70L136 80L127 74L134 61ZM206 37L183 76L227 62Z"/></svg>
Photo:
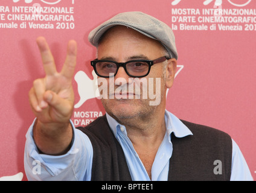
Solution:
<svg viewBox="0 0 256 193"><path fill-rule="evenodd" d="M115 137L117 138L117 129L120 129L122 127L126 132L126 127L124 125L119 124L114 118L112 118L109 114L106 112L107 122L109 123L109 126L114 133ZM180 119L178 119L175 115L165 110L165 127L166 131L168 133L168 138L170 140L170 134L174 133L174 136L176 138L184 138L188 135L193 135L193 133L189 130L189 128L181 122Z"/></svg>

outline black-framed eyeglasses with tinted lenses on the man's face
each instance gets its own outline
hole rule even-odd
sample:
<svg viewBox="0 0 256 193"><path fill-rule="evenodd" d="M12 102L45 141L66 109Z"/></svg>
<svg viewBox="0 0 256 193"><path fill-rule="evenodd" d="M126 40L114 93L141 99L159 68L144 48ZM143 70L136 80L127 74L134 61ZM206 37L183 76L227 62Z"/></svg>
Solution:
<svg viewBox="0 0 256 193"><path fill-rule="evenodd" d="M146 77L149 74L152 65L169 59L170 58L164 56L155 60L130 60L124 63L118 63L111 60L95 59L91 61L91 65L99 77L109 78L112 74L115 76L121 66L130 77L141 78Z"/></svg>

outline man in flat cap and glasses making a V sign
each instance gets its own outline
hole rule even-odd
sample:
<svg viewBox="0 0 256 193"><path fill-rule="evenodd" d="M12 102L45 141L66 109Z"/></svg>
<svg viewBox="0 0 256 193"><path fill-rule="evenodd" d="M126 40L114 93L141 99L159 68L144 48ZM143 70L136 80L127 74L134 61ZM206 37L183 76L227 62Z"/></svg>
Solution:
<svg viewBox="0 0 256 193"><path fill-rule="evenodd" d="M228 134L165 110L178 59L166 24L141 12L121 13L95 28L89 41L98 54L91 65L106 80L100 91L106 115L75 129L70 118L76 43L69 41L58 73L46 40L37 39L46 77L35 80L29 93L36 119L25 147L28 180L252 180ZM142 97L145 87L159 103Z"/></svg>

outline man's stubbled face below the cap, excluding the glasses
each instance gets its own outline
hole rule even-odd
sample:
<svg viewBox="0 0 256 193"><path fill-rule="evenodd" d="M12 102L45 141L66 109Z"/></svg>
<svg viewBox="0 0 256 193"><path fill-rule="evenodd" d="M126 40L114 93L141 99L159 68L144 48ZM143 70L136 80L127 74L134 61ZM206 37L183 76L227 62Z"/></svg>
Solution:
<svg viewBox="0 0 256 193"><path fill-rule="evenodd" d="M98 60L112 60L121 63L135 59L155 60L163 56L165 55L161 43L135 30L121 26L108 30L98 45ZM109 113L110 116L121 120L135 118L136 116L141 116L141 118L143 116L147 117L150 113L154 113L156 109L165 109L165 77L167 74L166 72L164 73L163 66L163 63L153 65L149 75L139 79L129 77L124 71L124 68L120 67L114 78L106 78L108 96L113 96L114 98L110 99L108 97L106 99L106 97L104 97L101 99L106 112ZM158 84L159 81L156 81L156 78L161 80L160 84ZM149 81L150 79L153 80L153 85L152 82ZM145 95L142 96L143 92L145 92L145 87L136 80L147 83L147 98L145 98ZM130 84L140 85L141 89L139 92L133 89L131 93L131 90L128 90ZM114 85L114 90L109 89L111 85ZM120 89L122 87L126 87L126 91ZM151 91L155 95L159 95L158 99L155 98L152 100L152 97L150 99L150 88L152 88L153 91ZM115 97L113 92L115 93ZM121 96L124 95L126 95L127 99L121 98ZM156 100L159 100L159 104L150 106L150 101Z"/></svg>

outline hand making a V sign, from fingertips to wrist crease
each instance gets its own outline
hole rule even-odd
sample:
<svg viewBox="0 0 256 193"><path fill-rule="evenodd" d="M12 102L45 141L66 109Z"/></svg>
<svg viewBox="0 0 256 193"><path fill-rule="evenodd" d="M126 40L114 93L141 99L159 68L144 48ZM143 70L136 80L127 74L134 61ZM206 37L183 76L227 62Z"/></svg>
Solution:
<svg viewBox="0 0 256 193"><path fill-rule="evenodd" d="M41 122L68 121L74 106L72 77L76 64L77 44L74 40L68 42L66 60L60 73L56 70L53 55L45 38L38 37L37 45L46 76L35 80L30 90L32 110Z"/></svg>

